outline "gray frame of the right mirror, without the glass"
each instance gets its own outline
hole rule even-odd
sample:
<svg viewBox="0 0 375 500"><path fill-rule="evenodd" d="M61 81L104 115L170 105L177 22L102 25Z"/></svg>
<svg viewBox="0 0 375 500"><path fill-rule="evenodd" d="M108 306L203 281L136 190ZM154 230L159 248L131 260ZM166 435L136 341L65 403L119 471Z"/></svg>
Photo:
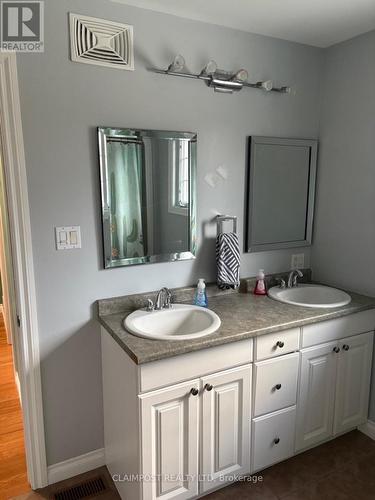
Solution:
<svg viewBox="0 0 375 500"><path fill-rule="evenodd" d="M310 148L309 163L309 184L306 211L305 238L303 240L285 241L277 243L253 244L251 235L251 221L253 216L252 193L254 189L254 170L255 170L255 147L257 144L272 144L280 146L304 146ZM247 171L247 194L246 204L246 238L245 252L262 252L266 250L281 250L283 248L306 247L312 242L314 205L315 205L315 186L317 172L318 141L316 139L284 139L279 137L250 136L249 137L249 155Z"/></svg>

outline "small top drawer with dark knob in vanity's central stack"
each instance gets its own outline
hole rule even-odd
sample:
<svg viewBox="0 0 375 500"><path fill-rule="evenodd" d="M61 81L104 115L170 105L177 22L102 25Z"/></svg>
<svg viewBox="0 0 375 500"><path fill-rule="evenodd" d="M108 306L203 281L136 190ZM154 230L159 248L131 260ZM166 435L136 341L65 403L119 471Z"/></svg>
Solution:
<svg viewBox="0 0 375 500"><path fill-rule="evenodd" d="M255 341L255 360L273 358L299 349L300 329L292 328L257 337Z"/></svg>

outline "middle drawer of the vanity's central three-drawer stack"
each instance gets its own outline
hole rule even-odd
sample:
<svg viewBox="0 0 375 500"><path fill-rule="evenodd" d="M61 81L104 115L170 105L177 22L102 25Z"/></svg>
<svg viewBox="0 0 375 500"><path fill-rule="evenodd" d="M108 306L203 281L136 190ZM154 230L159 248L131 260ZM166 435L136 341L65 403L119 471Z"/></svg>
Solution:
<svg viewBox="0 0 375 500"><path fill-rule="evenodd" d="M254 363L254 416L296 403L299 353Z"/></svg>

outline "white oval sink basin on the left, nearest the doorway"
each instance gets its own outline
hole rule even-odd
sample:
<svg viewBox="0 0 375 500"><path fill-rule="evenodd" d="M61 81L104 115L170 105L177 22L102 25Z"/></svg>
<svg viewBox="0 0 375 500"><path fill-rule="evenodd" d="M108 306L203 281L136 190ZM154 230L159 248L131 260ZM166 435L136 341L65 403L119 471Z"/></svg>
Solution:
<svg viewBox="0 0 375 500"><path fill-rule="evenodd" d="M138 337L157 340L189 340L216 332L219 316L203 307L173 304L170 309L138 309L124 320L126 330Z"/></svg>

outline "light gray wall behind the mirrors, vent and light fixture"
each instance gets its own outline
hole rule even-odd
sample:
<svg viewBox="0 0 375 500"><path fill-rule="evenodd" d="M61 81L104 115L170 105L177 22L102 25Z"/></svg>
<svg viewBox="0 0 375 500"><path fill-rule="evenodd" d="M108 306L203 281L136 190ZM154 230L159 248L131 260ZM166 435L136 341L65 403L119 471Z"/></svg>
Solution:
<svg viewBox="0 0 375 500"><path fill-rule="evenodd" d="M136 71L70 62L69 11L133 24ZM322 51L104 0L49 0L45 14L45 53L20 55L18 69L47 456L53 464L103 446L95 300L214 279L215 225L208 221L216 213L234 214L242 231L246 136L317 137ZM166 67L179 52L191 70L214 58L222 68L245 67L251 80L273 78L297 93L244 89L228 96L202 82L146 71L151 64ZM198 132L195 261L103 270L98 125ZM204 177L219 165L227 168L228 179L213 189ZM81 226L82 249L57 252L54 226L75 224ZM254 275L259 267L288 269L291 253L243 255L241 274Z"/></svg>

